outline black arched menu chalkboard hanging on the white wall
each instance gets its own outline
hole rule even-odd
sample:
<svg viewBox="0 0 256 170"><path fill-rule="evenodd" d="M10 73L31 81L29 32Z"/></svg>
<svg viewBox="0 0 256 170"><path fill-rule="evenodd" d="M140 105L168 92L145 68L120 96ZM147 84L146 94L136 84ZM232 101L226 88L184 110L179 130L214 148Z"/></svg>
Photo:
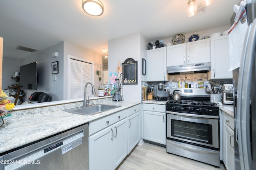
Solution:
<svg viewBox="0 0 256 170"><path fill-rule="evenodd" d="M123 67L123 84L138 84L138 61L128 58L122 63Z"/></svg>

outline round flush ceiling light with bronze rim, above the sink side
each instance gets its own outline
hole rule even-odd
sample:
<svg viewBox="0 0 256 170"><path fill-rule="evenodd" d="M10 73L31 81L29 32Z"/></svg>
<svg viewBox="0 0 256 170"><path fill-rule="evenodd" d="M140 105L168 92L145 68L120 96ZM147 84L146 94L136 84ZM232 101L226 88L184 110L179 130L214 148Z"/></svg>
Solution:
<svg viewBox="0 0 256 170"><path fill-rule="evenodd" d="M83 0L82 8L91 16L101 16L104 11L104 6L99 0Z"/></svg>

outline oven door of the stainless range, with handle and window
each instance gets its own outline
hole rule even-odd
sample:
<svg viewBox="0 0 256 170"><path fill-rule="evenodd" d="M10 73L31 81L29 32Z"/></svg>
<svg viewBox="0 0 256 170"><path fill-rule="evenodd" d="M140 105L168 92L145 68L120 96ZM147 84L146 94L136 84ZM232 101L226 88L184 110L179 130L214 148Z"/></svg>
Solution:
<svg viewBox="0 0 256 170"><path fill-rule="evenodd" d="M172 111L166 111L166 113L166 137L168 139L219 149L218 116Z"/></svg>

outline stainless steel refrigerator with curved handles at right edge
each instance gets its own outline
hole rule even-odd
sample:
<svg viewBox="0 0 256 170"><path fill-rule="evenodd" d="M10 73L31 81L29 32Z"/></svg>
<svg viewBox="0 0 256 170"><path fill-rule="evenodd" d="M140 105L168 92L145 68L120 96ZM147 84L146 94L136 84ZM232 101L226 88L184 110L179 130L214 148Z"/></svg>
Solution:
<svg viewBox="0 0 256 170"><path fill-rule="evenodd" d="M256 0L247 0L248 28L233 70L235 170L256 170ZM234 21L231 19L231 22ZM232 23L231 23L232 25Z"/></svg>

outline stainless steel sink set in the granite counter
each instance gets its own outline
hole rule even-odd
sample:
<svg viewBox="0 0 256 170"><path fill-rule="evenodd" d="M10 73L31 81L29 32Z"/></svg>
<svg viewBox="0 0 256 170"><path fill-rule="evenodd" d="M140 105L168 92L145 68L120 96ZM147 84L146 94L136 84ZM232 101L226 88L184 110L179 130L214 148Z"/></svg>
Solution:
<svg viewBox="0 0 256 170"><path fill-rule="evenodd" d="M103 111L107 111L110 109L114 109L121 106L113 106L113 105L105 105L105 104L95 104L91 106L82 106L82 107L75 107L72 109L66 109L64 111L69 113L76 113L80 115L94 115L97 113L101 113Z"/></svg>

